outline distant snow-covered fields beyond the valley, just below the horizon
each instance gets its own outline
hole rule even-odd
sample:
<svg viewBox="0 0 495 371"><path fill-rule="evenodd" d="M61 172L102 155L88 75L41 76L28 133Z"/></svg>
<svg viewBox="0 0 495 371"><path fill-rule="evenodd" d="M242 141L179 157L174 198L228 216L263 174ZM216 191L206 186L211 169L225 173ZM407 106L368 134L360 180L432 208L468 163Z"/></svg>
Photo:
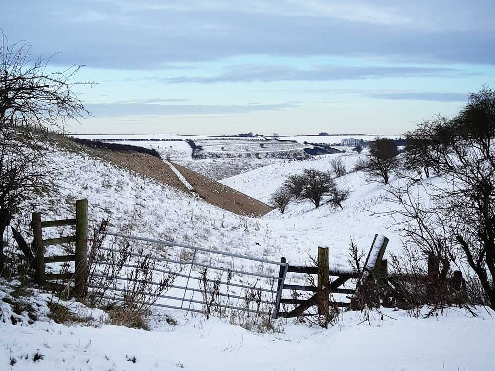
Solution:
<svg viewBox="0 0 495 371"><path fill-rule="evenodd" d="M77 135L82 139L132 139L129 144L156 149L163 159L169 159L187 167L199 174L214 180L226 179L255 170L267 165L284 163L290 159L307 158L304 148L312 148L308 143L340 143L344 138L363 139L375 138L374 135L330 135L330 136L290 136L280 137L280 140L266 140L263 137L248 139L236 137L201 136L201 135L121 135L121 134L91 134ZM396 138L395 135L383 137ZM267 137L269 138L269 137ZM155 139L155 140L151 140ZM159 139L159 140L156 140ZM168 140L167 140L168 139ZM182 140L171 140L182 139ZM199 158L192 158L192 150L185 140L194 140L201 146ZM291 140L297 142L290 142ZM339 147L350 152L352 147ZM267 169L268 170L268 169ZM244 190L249 194L249 189Z"/></svg>

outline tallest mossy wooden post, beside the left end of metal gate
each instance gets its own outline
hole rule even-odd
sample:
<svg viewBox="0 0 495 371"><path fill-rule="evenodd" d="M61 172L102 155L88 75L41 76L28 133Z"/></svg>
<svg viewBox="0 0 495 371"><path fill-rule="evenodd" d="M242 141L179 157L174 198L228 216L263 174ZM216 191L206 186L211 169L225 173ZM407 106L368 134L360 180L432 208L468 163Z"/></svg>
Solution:
<svg viewBox="0 0 495 371"><path fill-rule="evenodd" d="M84 298L88 294L88 200L76 201L75 240L75 294Z"/></svg>

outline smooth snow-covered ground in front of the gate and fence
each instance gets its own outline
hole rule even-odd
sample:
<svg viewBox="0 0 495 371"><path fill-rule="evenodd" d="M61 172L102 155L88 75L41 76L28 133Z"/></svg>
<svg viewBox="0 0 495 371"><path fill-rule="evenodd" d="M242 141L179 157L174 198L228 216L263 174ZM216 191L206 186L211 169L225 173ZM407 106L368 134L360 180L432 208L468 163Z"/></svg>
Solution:
<svg viewBox="0 0 495 371"><path fill-rule="evenodd" d="M38 313L48 313L49 295L31 300ZM283 334L256 334L202 315L176 317L177 325L157 320L153 331L143 331L98 325L104 315L97 310L96 327L59 325L43 316L32 325L22 316L12 325L5 303L1 313L7 317L0 322L1 370L457 371L495 365L495 313L485 309L478 317L450 309L431 318L383 309L369 322L363 313L347 312L328 330L288 323ZM37 352L43 357L33 361ZM11 359L16 362L8 366Z"/></svg>

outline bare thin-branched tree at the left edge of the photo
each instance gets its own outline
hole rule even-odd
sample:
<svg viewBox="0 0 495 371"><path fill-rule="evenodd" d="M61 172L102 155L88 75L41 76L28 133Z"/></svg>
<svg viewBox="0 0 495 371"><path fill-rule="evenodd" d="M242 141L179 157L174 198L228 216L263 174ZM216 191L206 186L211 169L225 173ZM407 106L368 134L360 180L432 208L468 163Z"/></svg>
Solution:
<svg viewBox="0 0 495 371"><path fill-rule="evenodd" d="M15 214L48 183L42 170L46 145L36 128L63 128L86 110L73 88L80 66L49 72L48 61L31 59L28 44L0 45L0 236ZM1 238L2 239L2 238ZM3 269L0 249L0 271Z"/></svg>

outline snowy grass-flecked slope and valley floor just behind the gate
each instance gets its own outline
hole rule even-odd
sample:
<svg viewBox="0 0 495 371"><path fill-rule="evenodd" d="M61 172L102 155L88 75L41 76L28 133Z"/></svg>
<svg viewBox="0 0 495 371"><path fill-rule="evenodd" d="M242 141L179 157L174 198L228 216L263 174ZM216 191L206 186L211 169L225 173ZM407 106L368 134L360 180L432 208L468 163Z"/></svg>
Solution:
<svg viewBox="0 0 495 371"><path fill-rule="evenodd" d="M298 166L301 169L310 166L326 169L330 156L307 162L284 162L284 173L270 171L270 166L254 170L267 169L274 185L264 186L260 177L256 178L259 182L250 188L261 189L266 198L272 192L271 187L275 188L277 182L282 182L283 174L299 171ZM348 159L350 166L357 155L344 154L343 158ZM307 262L309 255L314 256L317 247L324 245L331 247L333 263L348 265L350 237L367 251L376 233L389 237L390 251L400 251L401 248L397 236L386 229L385 220L371 218L363 212L381 197L381 188L378 185L359 187L359 173L342 179L345 182L348 178L349 185L354 180L357 182L354 198L347 201L344 211L326 205L311 210L308 203L302 203L291 205L284 218L273 211L264 219L256 219L227 212L191 194L81 153L57 150L51 155L50 164L53 168L62 169L55 180L60 192L41 197L36 206L33 205L44 213L46 219L72 215L74 200L86 198L91 222L96 224L103 216L109 216L112 232L132 230L138 235L276 261L285 256L290 262ZM249 195L248 190L246 193ZM297 214L304 211L307 211L304 217L297 218ZM29 230L28 217L26 215L24 219L26 230Z"/></svg>

